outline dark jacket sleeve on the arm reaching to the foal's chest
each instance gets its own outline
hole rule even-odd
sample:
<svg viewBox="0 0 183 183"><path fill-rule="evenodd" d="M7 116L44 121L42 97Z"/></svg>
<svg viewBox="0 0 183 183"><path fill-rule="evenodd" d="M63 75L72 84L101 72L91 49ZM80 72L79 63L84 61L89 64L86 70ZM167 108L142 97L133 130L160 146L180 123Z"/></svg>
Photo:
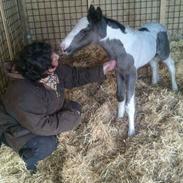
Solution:
<svg viewBox="0 0 183 183"><path fill-rule="evenodd" d="M103 66L71 67L62 64L57 69L57 75L64 84L64 88L79 87L91 82L100 82L105 79Z"/></svg>

